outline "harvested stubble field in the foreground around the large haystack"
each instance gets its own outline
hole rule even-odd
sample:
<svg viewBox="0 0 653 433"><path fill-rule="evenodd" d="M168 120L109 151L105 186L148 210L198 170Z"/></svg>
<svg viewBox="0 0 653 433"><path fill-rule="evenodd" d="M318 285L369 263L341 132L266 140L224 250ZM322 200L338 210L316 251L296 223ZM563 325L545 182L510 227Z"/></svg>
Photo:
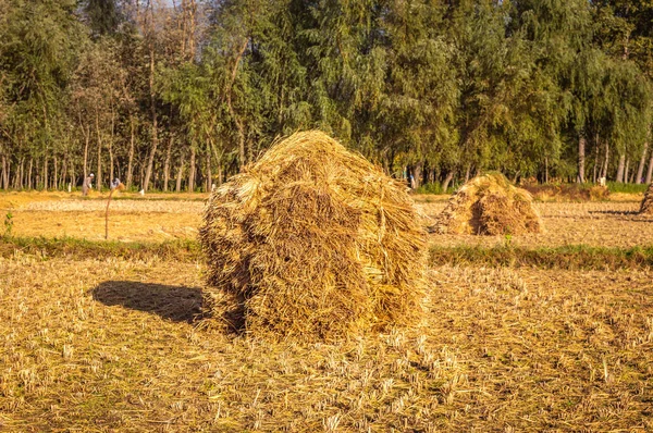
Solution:
<svg viewBox="0 0 653 433"><path fill-rule="evenodd" d="M326 345L195 329L198 263L0 268L7 431L653 429L651 271L434 268L421 326Z"/></svg>

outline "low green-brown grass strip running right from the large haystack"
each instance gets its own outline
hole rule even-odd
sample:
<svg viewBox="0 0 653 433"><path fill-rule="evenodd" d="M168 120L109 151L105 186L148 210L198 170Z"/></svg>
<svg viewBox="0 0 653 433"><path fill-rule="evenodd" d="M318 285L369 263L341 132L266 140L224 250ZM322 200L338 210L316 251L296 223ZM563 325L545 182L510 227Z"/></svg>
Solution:
<svg viewBox="0 0 653 433"><path fill-rule="evenodd" d="M440 247L429 250L429 263L484 265L489 268L538 268L560 270L617 270L653 267L653 246L632 248L569 245L562 247L521 248L513 246Z"/></svg>

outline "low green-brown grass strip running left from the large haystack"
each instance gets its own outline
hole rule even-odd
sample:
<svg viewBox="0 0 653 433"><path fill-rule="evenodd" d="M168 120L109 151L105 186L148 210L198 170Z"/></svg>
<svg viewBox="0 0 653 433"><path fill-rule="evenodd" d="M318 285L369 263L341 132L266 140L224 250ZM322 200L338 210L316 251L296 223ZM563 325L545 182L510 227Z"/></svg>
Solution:
<svg viewBox="0 0 653 433"><path fill-rule="evenodd" d="M0 237L0 257L12 257L19 251L41 258L67 257L75 260L88 258L146 260L155 256L176 261L201 259L200 246L196 240L123 243L116 240L86 240L73 237Z"/></svg>

